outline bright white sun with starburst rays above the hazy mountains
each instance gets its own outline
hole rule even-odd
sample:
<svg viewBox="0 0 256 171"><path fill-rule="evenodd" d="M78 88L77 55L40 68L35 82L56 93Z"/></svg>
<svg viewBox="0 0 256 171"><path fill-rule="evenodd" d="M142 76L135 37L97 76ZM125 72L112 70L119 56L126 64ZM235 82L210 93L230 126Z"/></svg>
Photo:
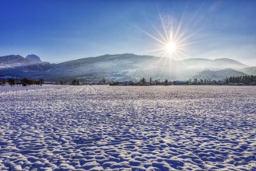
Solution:
<svg viewBox="0 0 256 171"><path fill-rule="evenodd" d="M135 26L138 30L145 33L147 36L156 40L156 48L153 48L150 51L146 51L146 53L157 53L161 58L158 63L164 64L164 66L169 65L170 76L169 79L174 80L174 60L181 60L184 57L187 57L186 51L188 50L188 46L191 44L195 44L195 42L191 41L191 38L194 37L200 30L197 32L189 33L184 26L184 13L176 23L170 16L166 16L165 18L158 11L160 25L156 27L152 24L154 33L149 33L146 30L142 30L138 26ZM188 28L188 27L187 27ZM191 31L191 30L190 30ZM162 68L163 70L166 68Z"/></svg>

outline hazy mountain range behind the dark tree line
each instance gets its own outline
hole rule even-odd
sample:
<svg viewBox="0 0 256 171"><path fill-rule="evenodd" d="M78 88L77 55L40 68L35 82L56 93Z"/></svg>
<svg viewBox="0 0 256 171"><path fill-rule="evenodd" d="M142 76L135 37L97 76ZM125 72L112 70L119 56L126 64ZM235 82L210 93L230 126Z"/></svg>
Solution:
<svg viewBox="0 0 256 171"><path fill-rule="evenodd" d="M189 58L175 61L169 58L135 54L106 54L59 64L41 61L34 54L26 58L20 55L0 57L0 78L26 77L45 81L83 79L88 82L98 82L103 78L109 81L139 81L143 77L160 80L195 78L219 80L240 75L256 75L256 67L247 66L229 58L215 60Z"/></svg>

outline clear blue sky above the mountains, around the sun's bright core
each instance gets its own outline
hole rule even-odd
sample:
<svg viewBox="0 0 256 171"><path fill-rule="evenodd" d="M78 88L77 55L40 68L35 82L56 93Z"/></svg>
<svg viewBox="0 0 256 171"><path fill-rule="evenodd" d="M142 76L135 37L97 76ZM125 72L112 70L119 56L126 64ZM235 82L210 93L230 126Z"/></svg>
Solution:
<svg viewBox="0 0 256 171"><path fill-rule="evenodd" d="M37 54L52 63L103 54L161 56L153 50L163 45L153 37L163 40L172 30L183 40L179 59L232 58L256 66L254 0L0 2L0 56Z"/></svg>

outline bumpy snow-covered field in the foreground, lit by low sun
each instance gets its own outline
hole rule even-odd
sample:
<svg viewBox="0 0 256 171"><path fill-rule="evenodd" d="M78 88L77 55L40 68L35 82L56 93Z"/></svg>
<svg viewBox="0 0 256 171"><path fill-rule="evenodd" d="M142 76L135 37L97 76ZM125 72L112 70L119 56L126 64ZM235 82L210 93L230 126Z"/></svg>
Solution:
<svg viewBox="0 0 256 171"><path fill-rule="evenodd" d="M256 170L254 86L1 86L0 170Z"/></svg>

